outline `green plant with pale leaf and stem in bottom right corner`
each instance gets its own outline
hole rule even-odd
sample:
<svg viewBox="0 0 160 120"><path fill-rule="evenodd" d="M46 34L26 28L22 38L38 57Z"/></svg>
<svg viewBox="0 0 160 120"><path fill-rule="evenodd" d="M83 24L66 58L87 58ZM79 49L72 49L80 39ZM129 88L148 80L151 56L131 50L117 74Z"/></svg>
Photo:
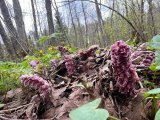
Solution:
<svg viewBox="0 0 160 120"><path fill-rule="evenodd" d="M160 88L155 88L144 93L145 100L151 100L151 118L153 119L158 111L157 100L160 99Z"/></svg>

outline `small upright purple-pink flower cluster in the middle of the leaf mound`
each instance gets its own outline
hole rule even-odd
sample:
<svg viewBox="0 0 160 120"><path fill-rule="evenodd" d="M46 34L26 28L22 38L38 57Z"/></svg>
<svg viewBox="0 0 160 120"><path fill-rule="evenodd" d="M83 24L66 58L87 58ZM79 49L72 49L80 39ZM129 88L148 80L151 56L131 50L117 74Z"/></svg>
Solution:
<svg viewBox="0 0 160 120"><path fill-rule="evenodd" d="M73 58L68 55L68 56L65 56L64 61L65 61L65 66L66 66L68 75L72 76L76 72Z"/></svg>

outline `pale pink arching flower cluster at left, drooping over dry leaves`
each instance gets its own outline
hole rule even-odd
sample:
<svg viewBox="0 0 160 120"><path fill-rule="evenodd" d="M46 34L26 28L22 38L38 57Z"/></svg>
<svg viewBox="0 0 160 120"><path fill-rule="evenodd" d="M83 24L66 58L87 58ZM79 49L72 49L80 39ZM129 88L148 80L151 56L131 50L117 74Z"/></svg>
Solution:
<svg viewBox="0 0 160 120"><path fill-rule="evenodd" d="M48 95L51 92L49 83L42 77L39 77L37 75L22 75L20 79L25 86L33 87L44 96Z"/></svg>

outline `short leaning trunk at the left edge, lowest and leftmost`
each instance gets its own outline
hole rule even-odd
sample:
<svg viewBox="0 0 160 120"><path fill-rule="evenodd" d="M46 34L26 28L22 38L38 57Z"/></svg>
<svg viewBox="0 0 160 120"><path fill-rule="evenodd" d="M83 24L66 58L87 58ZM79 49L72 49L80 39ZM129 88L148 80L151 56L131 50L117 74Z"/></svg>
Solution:
<svg viewBox="0 0 160 120"><path fill-rule="evenodd" d="M6 47L6 50L7 52L9 53L9 55L11 56L11 59L14 60L16 58L16 54L15 54L15 50L11 44L11 41L10 39L8 38L4 28L3 28L3 25L0 21L0 35L2 37L2 40L3 40L3 43Z"/></svg>

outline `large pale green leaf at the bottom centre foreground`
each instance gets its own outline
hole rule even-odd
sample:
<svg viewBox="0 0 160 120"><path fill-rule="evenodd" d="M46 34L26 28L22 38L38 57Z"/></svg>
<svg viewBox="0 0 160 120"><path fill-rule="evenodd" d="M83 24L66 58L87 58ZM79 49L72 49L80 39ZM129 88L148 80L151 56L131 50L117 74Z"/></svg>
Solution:
<svg viewBox="0 0 160 120"><path fill-rule="evenodd" d="M96 99L90 103L72 110L69 114L71 120L106 120L109 113L105 109L96 109L101 102L101 99Z"/></svg>

